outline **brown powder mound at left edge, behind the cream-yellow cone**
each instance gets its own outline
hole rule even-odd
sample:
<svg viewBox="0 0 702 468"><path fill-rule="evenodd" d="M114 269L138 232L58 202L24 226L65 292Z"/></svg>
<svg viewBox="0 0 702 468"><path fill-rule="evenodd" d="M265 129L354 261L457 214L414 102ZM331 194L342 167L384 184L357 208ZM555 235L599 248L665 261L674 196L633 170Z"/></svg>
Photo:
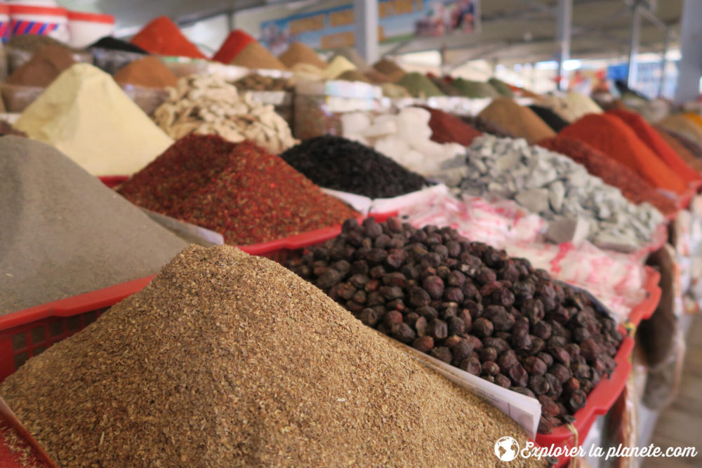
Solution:
<svg viewBox="0 0 702 468"><path fill-rule="evenodd" d="M46 46L8 76L7 83L46 88L63 70L75 63L73 54L65 47Z"/></svg>

